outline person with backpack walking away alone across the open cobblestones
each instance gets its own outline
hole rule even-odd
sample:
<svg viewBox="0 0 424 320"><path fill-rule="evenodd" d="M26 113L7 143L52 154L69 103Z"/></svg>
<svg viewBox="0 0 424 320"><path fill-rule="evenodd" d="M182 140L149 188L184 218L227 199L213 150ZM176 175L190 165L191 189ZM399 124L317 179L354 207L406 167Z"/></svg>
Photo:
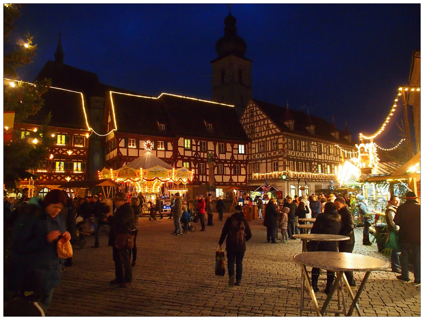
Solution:
<svg viewBox="0 0 424 320"><path fill-rule="evenodd" d="M234 286L234 262L236 265L236 286L241 285L246 241L251 237L252 233L244 216L243 207L236 205L234 213L225 221L218 242L221 246L224 243L224 239L227 238L225 250L227 251L228 275L230 277L229 286Z"/></svg>

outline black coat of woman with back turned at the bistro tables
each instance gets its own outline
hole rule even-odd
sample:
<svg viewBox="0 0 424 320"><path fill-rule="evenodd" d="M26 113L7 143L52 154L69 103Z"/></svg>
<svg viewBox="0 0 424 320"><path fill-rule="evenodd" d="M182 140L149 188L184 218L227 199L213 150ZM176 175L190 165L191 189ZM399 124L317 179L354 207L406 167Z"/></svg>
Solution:
<svg viewBox="0 0 424 320"><path fill-rule="evenodd" d="M318 213L311 228L311 233L339 234L342 219L337 210ZM321 241L317 251L337 251L335 241Z"/></svg>

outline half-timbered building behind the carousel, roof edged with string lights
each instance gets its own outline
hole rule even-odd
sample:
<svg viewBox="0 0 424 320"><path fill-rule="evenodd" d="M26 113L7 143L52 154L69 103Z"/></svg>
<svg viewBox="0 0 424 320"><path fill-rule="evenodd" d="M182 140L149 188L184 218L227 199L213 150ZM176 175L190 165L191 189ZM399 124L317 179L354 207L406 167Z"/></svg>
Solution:
<svg viewBox="0 0 424 320"><path fill-rule="evenodd" d="M225 196L229 185L247 184L249 139L233 106L166 93L155 98L111 91L104 119L110 168L141 156L150 141L151 152L160 159L194 170L189 196L206 192L211 165L210 185L217 194Z"/></svg>

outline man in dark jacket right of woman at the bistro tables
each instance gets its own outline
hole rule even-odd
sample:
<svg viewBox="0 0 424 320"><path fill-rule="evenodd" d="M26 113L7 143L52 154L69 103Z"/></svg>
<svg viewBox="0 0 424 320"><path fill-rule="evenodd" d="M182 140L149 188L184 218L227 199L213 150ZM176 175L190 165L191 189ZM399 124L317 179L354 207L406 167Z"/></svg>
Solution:
<svg viewBox="0 0 424 320"><path fill-rule="evenodd" d="M339 235L350 237L349 240L339 241L339 252L349 252L352 253L353 247L355 245L355 235L353 232L354 224L353 224L353 215L350 212L348 206L346 205L346 200L343 197L338 196L334 200L334 204L336 205L337 211L342 219L342 227L340 229ZM346 271L345 272L347 281L349 282L349 286L352 289L356 288L355 279L353 278L353 272Z"/></svg>

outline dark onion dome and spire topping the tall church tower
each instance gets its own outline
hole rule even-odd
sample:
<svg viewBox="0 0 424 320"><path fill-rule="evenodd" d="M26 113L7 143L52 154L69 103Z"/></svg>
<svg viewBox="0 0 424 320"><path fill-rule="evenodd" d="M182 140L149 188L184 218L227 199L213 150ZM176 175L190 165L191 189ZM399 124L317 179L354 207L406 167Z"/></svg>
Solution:
<svg viewBox="0 0 424 320"><path fill-rule="evenodd" d="M224 19L224 36L215 45L215 51L220 58L230 54L243 57L246 52L246 42L242 37L237 36L236 21L237 19L232 16L230 8L228 16Z"/></svg>

